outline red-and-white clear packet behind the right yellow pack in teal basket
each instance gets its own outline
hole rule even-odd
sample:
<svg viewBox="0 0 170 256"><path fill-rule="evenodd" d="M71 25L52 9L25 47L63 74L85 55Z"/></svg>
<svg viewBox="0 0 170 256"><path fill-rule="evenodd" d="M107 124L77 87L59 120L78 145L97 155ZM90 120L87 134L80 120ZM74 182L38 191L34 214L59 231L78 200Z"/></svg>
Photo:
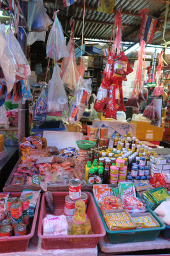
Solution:
<svg viewBox="0 0 170 256"><path fill-rule="evenodd" d="M125 196L122 198L122 207L127 209L129 213L146 212L144 202L141 199L134 196Z"/></svg>

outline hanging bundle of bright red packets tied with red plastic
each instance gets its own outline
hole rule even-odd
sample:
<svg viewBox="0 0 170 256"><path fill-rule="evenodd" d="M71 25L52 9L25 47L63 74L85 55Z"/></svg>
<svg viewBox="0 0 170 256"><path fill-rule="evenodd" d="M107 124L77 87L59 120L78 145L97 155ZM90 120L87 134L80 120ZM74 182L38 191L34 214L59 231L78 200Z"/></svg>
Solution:
<svg viewBox="0 0 170 256"><path fill-rule="evenodd" d="M108 54L108 61L103 72L104 79L97 93L94 109L97 112L105 112L106 118L112 117L117 119L117 111L125 111L122 81L127 81L126 76L132 72L127 57L120 50L122 46L122 18L120 10L115 15L113 28L117 28L117 34L112 50Z"/></svg>

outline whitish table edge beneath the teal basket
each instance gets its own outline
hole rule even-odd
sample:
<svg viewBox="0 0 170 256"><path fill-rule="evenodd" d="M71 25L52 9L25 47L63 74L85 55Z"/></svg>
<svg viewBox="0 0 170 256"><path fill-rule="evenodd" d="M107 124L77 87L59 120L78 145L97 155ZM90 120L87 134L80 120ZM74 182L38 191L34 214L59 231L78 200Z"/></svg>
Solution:
<svg viewBox="0 0 170 256"><path fill-rule="evenodd" d="M148 250L162 250L170 248L170 240L158 237L154 241L138 242L138 243L124 243L124 244L110 244L108 237L101 238L99 242L101 251L104 253L127 253ZM134 254L134 253L132 253Z"/></svg>

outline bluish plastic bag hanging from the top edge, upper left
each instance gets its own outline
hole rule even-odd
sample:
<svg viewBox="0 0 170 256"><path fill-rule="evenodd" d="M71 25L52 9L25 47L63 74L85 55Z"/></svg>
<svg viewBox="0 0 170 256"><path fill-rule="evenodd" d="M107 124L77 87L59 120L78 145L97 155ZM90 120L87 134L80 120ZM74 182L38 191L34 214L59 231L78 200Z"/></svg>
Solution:
<svg viewBox="0 0 170 256"><path fill-rule="evenodd" d="M48 31L48 26L52 24L52 20L46 14L43 0L34 0L32 4L32 12L30 16L28 15L30 17L29 29L36 32Z"/></svg>

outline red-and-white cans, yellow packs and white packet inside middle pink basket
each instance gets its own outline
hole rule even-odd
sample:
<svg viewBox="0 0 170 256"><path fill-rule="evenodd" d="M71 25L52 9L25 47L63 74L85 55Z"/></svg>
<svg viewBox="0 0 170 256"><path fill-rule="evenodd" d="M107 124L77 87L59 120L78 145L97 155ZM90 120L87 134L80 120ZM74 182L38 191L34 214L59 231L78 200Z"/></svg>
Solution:
<svg viewBox="0 0 170 256"><path fill-rule="evenodd" d="M49 195L50 192L46 193ZM43 236L92 234L90 220L86 214L87 200L87 194L81 193L80 180L69 180L69 195L66 196L64 205L65 215L46 214L43 218ZM47 203L49 205L49 200ZM50 193L50 209L54 208L53 196Z"/></svg>

